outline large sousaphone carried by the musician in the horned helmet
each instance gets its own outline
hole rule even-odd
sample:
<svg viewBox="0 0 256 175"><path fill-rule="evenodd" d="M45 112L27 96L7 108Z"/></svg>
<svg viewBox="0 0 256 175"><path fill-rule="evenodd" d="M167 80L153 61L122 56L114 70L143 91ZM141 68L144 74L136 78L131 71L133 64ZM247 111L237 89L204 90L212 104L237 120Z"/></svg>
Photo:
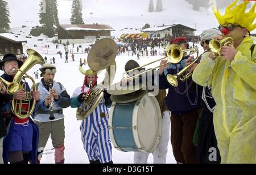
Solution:
<svg viewBox="0 0 256 175"><path fill-rule="evenodd" d="M96 60L94 57L90 57L90 53L92 55L92 52L95 50L98 50L98 47L102 47L103 49L106 47L106 45L109 45L112 51L106 53L106 55L114 55L112 59L104 59L104 60ZM108 87L112 84L114 80L115 71L117 69L116 63L115 63L115 56L117 55L117 45L112 39L101 39L97 41L96 44L92 46L90 49L90 52L88 54L88 65L90 69L94 70L95 72L99 73L101 70L106 69L106 74L104 80L99 84L95 86L89 85L89 93L88 97L84 99L84 102L82 102L82 105L77 109L76 111L76 117L77 120L82 120L87 118L94 109L98 106L98 103L101 102L101 99L104 97L104 86ZM99 56L100 57L100 56ZM105 62L105 64L99 64L99 62ZM112 68L114 66L114 74L112 74ZM82 68L82 64L79 66L79 70L82 74L85 75L86 70ZM106 84L104 84L106 83Z"/></svg>

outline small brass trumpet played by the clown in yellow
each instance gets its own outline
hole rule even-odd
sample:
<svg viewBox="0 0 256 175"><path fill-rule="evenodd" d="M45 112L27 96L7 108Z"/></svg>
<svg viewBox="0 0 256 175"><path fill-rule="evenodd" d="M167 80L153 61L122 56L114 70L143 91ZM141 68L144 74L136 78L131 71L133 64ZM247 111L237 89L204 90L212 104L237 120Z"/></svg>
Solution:
<svg viewBox="0 0 256 175"><path fill-rule="evenodd" d="M212 51L215 56L220 56L221 47L223 45L233 45L233 44L234 44L234 40L228 36L221 40L217 40L217 39L210 40L209 48L210 48L210 51Z"/></svg>

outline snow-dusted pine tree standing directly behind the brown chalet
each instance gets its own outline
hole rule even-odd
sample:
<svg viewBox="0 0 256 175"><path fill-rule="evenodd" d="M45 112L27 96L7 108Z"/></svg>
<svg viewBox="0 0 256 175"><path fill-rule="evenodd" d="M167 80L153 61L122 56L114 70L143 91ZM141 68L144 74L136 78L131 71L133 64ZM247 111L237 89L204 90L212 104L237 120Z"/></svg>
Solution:
<svg viewBox="0 0 256 175"><path fill-rule="evenodd" d="M73 0L72 15L70 18L71 24L84 24L84 20L82 20L82 8L80 3L80 0Z"/></svg>

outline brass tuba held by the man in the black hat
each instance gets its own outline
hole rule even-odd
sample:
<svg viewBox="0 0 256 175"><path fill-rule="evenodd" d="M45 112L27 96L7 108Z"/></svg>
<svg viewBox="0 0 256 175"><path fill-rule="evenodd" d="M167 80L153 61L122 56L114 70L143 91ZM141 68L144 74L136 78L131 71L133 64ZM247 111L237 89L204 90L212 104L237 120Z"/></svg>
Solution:
<svg viewBox="0 0 256 175"><path fill-rule="evenodd" d="M18 90L23 90L26 92L26 97L19 101L18 99L13 99L11 102L11 111L20 119L28 118L34 111L36 101L35 99L31 99L32 91L36 91L36 84L32 77L28 76L26 72L30 70L36 64L44 64L43 57L33 49L27 49L28 58L24 62L24 64L19 69L14 69L13 71L17 71L14 76L13 82L7 82L1 78L3 83L7 86L7 93L8 94L15 94ZM32 81L33 85L30 91L26 91L26 84L22 84L22 81L28 78ZM22 109L23 101L28 103L28 109L24 111ZM32 101L32 105L31 105Z"/></svg>

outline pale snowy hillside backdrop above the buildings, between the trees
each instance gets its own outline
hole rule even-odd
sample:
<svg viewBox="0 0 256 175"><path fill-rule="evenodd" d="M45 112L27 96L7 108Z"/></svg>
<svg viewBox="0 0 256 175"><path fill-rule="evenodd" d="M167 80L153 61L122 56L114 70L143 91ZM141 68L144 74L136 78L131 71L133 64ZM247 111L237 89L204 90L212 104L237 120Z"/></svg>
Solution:
<svg viewBox="0 0 256 175"><path fill-rule="evenodd" d="M39 0L6 0L9 3L11 27L39 25ZM202 0L204 1L204 0ZM149 0L81 0L82 18L87 24L109 24L118 37L123 28L140 30L144 24L151 27L180 23L196 28L196 35L207 28L217 27L210 7L192 10L185 0L162 0L162 12L148 12ZM153 0L156 6L156 0ZM214 0L209 1L212 4ZM72 0L57 0L60 24L70 24ZM254 31L252 33L255 33Z"/></svg>

